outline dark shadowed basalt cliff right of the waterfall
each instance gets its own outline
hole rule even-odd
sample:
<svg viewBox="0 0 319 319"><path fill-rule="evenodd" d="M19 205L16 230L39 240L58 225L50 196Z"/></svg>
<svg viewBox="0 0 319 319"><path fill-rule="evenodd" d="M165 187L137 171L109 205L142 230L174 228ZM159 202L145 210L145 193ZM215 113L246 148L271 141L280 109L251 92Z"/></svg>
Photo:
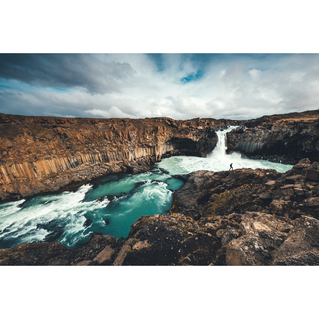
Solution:
<svg viewBox="0 0 319 319"><path fill-rule="evenodd" d="M319 111L263 116L227 134L228 152L282 163L319 160Z"/></svg>

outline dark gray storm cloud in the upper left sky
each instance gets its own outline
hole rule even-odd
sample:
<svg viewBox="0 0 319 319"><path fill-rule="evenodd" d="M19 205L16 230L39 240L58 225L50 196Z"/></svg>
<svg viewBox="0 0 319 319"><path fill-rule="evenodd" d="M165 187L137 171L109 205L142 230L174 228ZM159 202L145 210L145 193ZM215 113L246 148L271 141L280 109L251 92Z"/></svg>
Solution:
<svg viewBox="0 0 319 319"><path fill-rule="evenodd" d="M129 63L103 62L87 54L0 54L0 78L37 87L122 92L134 72Z"/></svg>

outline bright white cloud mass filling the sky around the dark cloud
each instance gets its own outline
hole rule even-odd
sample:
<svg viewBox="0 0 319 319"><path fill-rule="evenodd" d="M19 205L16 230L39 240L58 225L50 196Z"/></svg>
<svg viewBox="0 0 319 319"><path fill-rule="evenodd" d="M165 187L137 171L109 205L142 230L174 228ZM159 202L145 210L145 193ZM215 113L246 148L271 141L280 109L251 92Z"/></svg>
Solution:
<svg viewBox="0 0 319 319"><path fill-rule="evenodd" d="M99 58L99 55L96 56ZM193 63L190 57L164 56L163 69L149 56L107 55L106 62L129 63L134 70L122 92L91 95L85 91L2 90L0 112L26 115L174 119L194 117L249 119L262 115L317 109L319 56L279 55L265 59L235 56ZM202 78L181 79L203 69ZM90 75L93 76L93 75ZM121 82L117 80L117 85Z"/></svg>

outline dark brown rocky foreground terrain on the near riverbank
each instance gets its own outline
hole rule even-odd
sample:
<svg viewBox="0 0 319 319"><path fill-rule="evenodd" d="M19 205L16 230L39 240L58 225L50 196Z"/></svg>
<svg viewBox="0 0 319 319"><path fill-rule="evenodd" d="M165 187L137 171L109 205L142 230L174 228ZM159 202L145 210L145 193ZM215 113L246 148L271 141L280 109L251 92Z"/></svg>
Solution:
<svg viewBox="0 0 319 319"><path fill-rule="evenodd" d="M181 175L170 215L139 217L127 238L91 233L0 250L2 265L319 265L319 163Z"/></svg>

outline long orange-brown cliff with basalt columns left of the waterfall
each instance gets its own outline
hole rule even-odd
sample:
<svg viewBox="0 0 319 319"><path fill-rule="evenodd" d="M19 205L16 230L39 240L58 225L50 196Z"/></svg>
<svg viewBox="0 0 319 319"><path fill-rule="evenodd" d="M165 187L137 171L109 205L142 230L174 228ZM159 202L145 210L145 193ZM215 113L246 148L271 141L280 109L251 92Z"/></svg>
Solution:
<svg viewBox="0 0 319 319"><path fill-rule="evenodd" d="M114 172L145 171L163 154L203 156L216 145L215 130L236 123L0 114L0 197L59 190Z"/></svg>

